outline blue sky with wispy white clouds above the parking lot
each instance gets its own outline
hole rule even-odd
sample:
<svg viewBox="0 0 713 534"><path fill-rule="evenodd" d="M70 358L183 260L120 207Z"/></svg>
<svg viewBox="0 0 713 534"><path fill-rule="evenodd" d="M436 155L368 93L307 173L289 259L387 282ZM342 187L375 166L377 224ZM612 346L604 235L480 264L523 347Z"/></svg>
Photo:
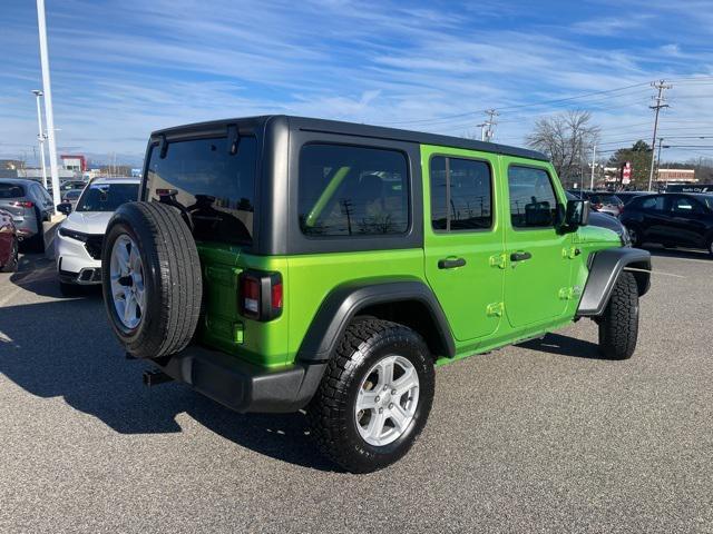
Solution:
<svg viewBox="0 0 713 534"><path fill-rule="evenodd" d="M674 83L666 142L713 146L687 138L713 136L711 0L46 3L58 146L97 160L138 162L152 130L199 120L277 112L460 136L487 108L500 108L495 140L514 145L538 117L588 109L613 150L651 138L646 83L660 78ZM0 0L0 157L32 159L35 2Z"/></svg>

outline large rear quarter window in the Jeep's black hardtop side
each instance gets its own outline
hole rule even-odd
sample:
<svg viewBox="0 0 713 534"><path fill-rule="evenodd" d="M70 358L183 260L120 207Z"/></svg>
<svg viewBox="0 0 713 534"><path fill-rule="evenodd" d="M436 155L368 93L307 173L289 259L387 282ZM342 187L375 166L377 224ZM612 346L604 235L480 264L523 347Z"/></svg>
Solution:
<svg viewBox="0 0 713 534"><path fill-rule="evenodd" d="M300 228L309 236L404 234L409 181L402 152L305 145L300 154Z"/></svg>

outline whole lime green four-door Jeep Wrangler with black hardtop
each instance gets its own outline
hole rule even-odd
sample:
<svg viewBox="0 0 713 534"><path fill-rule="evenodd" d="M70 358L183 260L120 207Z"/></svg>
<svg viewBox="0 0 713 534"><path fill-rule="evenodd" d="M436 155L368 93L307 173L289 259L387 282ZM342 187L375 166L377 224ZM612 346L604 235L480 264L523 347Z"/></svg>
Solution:
<svg viewBox="0 0 713 534"><path fill-rule="evenodd" d="M403 456L434 366L580 317L636 346L651 257L587 227L538 152L284 116L152 135L140 201L102 250L104 297L147 384L238 412L306 409L364 473Z"/></svg>

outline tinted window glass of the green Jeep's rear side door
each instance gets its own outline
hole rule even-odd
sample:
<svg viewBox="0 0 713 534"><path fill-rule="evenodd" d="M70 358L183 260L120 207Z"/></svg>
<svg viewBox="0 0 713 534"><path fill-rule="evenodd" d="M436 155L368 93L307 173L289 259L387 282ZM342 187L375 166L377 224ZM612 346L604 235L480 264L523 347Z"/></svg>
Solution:
<svg viewBox="0 0 713 534"><path fill-rule="evenodd" d="M490 166L470 159L431 158L431 226L477 230L492 226Z"/></svg>

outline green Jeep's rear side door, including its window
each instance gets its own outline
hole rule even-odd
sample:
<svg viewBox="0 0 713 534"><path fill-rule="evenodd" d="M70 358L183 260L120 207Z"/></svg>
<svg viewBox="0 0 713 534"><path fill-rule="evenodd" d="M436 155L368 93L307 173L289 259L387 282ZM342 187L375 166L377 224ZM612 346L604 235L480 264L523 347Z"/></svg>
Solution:
<svg viewBox="0 0 713 534"><path fill-rule="evenodd" d="M505 280L497 156L421 147L426 276L458 340L497 330Z"/></svg>

